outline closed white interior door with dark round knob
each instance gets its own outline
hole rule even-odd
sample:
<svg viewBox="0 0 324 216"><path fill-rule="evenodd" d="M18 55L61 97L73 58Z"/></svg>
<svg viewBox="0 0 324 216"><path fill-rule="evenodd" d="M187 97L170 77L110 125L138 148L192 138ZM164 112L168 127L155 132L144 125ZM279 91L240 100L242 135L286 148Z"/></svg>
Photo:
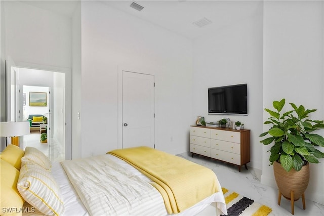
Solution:
<svg viewBox="0 0 324 216"><path fill-rule="evenodd" d="M154 148L154 76L123 71L122 148Z"/></svg>

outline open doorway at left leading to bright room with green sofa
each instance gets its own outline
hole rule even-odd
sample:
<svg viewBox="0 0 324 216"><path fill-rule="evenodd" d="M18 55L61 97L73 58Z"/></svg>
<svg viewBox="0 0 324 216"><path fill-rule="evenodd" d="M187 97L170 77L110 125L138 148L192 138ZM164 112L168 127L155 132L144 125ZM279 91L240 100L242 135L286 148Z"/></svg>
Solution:
<svg viewBox="0 0 324 216"><path fill-rule="evenodd" d="M65 133L65 73L48 70L13 67L17 77L15 103L12 109L18 113L18 121L26 121L30 115L42 115L48 118L48 124L31 126L31 134L21 139L20 146L36 147L49 157L51 161L65 159L66 133ZM44 94L46 106L31 105L30 93ZM13 92L12 92L13 94ZM50 97L52 96L52 97ZM43 131L41 130L43 127ZM41 132L47 135L47 142L41 143ZM67 156L68 158L70 155Z"/></svg>

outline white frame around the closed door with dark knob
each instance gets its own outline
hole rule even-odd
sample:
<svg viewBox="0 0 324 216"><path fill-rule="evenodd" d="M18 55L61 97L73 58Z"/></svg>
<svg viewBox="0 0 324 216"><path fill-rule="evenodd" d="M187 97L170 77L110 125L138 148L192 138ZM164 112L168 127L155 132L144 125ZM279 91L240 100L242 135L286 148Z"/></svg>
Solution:
<svg viewBox="0 0 324 216"><path fill-rule="evenodd" d="M117 137L117 148L121 149L123 148L123 71L130 72L130 73L140 73L145 75L151 75L154 77L154 83L155 83L155 76L154 74L144 73L144 72L137 72L141 70L133 70L133 69L126 69L125 67L118 66L118 82L117 82L117 131L118 131L118 137ZM154 89L154 109L155 109L155 89ZM154 111L155 112L155 111ZM155 148L155 118L154 118L154 132L153 132L153 143Z"/></svg>

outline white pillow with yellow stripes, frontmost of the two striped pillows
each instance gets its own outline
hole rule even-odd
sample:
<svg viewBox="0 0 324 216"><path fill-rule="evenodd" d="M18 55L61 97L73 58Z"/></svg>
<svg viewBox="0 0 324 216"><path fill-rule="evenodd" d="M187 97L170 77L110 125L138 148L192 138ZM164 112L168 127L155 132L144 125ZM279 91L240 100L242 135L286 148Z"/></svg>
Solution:
<svg viewBox="0 0 324 216"><path fill-rule="evenodd" d="M46 215L64 212L60 188L51 172L38 164L25 163L21 166L17 189L29 204Z"/></svg>

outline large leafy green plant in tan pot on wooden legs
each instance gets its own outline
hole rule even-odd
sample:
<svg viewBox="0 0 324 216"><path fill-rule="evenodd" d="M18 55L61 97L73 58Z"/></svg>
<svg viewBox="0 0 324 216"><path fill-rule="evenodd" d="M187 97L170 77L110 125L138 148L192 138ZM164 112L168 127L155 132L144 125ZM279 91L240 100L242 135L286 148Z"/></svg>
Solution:
<svg viewBox="0 0 324 216"><path fill-rule="evenodd" d="M309 182L309 162L318 163L318 158L324 158L324 153L315 146L324 147L324 138L313 132L324 128L322 120L311 120L308 114L316 109L305 109L303 105L297 107L290 103L292 110L280 113L286 103L285 99L273 101L275 111L264 109L270 117L264 124L270 124L269 131L260 137L270 135L261 140L264 145L272 144L270 149L270 163L273 164L274 177L279 188L278 204L281 194L292 202L294 214L294 201L300 196L305 209L304 192Z"/></svg>

